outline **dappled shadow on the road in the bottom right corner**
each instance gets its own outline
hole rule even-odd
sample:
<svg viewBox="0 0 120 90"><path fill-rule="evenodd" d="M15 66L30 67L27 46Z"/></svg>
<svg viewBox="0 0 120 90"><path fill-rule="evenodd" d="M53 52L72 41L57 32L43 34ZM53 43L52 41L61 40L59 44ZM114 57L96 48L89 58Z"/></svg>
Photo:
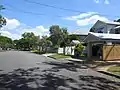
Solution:
<svg viewBox="0 0 120 90"><path fill-rule="evenodd" d="M79 76L79 80L85 84L79 84L81 90L119 90L120 82L110 81L106 78L97 76Z"/></svg>

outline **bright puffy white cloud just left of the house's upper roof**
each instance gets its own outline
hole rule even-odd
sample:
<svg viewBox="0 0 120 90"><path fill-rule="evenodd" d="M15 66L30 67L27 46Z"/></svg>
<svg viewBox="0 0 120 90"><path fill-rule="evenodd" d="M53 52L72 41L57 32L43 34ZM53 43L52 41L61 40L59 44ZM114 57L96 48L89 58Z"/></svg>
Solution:
<svg viewBox="0 0 120 90"><path fill-rule="evenodd" d="M99 16L99 15L93 15L89 18L77 20L76 23L79 26L87 26L90 24L94 24L96 21L101 20L101 21L109 21L106 17Z"/></svg>

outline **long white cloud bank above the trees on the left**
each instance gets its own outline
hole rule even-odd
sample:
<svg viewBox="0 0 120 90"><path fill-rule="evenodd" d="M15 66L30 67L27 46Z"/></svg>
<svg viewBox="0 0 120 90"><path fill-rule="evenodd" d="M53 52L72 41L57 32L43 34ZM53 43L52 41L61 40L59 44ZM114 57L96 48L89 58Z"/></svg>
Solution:
<svg viewBox="0 0 120 90"><path fill-rule="evenodd" d="M1 28L0 33L4 36L10 37L12 39L20 39L21 34L24 32L33 32L35 35L48 35L49 30L44 28L42 25L32 28L27 26L17 19L8 19L7 25Z"/></svg>

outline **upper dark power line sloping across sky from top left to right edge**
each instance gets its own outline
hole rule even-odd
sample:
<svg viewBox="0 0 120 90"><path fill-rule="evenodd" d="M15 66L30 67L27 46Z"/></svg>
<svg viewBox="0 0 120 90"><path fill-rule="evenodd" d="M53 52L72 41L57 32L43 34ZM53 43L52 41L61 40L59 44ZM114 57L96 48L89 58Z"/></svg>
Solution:
<svg viewBox="0 0 120 90"><path fill-rule="evenodd" d="M86 13L86 12L82 12L82 11L79 11L79 10L73 10L73 9L68 9L68 8L63 8L63 7L57 7L57 6L54 6L54 5L43 4L43 3L40 3L40 2L31 1L31 0L24 0L24 1L28 2L28 3L38 4L38 5L41 5L41 6L51 7L51 8L54 8L54 9L59 9L59 10L64 10L64 11ZM107 14L97 14L97 15L109 16L109 17L120 17L120 16L116 16L116 15L107 15Z"/></svg>

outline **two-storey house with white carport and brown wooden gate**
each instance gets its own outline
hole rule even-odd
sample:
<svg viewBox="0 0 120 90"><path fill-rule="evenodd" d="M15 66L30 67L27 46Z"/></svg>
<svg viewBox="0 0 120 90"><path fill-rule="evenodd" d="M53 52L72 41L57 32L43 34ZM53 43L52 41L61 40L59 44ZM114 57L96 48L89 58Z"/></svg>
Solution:
<svg viewBox="0 0 120 90"><path fill-rule="evenodd" d="M120 23L98 20L90 29L84 42L87 43L88 58L102 56L102 59L120 59L120 55L114 54L114 49L120 44ZM111 53L114 55L110 55Z"/></svg>

